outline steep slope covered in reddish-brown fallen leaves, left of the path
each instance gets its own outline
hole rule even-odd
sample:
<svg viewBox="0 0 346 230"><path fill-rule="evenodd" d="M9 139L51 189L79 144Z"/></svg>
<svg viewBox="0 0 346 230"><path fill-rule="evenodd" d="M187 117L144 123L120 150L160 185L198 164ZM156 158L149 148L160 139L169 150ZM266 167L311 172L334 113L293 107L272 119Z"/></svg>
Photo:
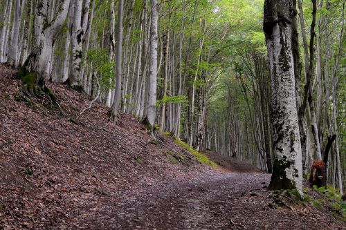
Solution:
<svg viewBox="0 0 346 230"><path fill-rule="evenodd" d="M115 125L99 103L80 115L90 100L48 83L63 115L21 92L14 74L0 66L0 226L64 229L120 194L214 171L174 140L154 142L134 117Z"/></svg>

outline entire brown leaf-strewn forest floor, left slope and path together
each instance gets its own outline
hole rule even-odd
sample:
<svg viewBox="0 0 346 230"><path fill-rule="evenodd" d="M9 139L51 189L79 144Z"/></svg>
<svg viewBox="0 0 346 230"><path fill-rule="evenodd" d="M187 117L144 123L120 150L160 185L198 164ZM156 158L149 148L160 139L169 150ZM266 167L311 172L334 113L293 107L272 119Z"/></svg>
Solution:
<svg viewBox="0 0 346 230"><path fill-rule="evenodd" d="M271 206L254 166L210 151L219 167L200 164L130 115L80 115L88 97L47 83L62 115L14 75L0 64L0 229L343 229L327 209Z"/></svg>

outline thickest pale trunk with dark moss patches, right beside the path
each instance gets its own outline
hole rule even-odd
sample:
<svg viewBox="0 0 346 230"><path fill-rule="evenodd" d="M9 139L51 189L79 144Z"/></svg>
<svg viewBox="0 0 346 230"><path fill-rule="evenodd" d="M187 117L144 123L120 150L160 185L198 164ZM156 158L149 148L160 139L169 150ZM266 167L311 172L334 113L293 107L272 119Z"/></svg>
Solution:
<svg viewBox="0 0 346 230"><path fill-rule="evenodd" d="M295 98L291 0L266 0L264 32L271 74L271 119L275 160L269 189L302 193L302 150Z"/></svg>

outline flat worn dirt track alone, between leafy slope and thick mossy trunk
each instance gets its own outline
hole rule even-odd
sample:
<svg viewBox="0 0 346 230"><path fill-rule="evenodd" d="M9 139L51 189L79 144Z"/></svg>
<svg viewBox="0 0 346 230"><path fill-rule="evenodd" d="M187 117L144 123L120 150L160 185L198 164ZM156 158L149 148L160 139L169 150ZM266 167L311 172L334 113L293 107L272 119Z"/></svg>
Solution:
<svg viewBox="0 0 346 230"><path fill-rule="evenodd" d="M255 202L260 195L257 191L268 180L269 176L262 173L220 173L183 184L167 184L139 199L120 204L124 212L118 219L122 229L255 227L257 217L253 213L256 210L247 210L246 202Z"/></svg>

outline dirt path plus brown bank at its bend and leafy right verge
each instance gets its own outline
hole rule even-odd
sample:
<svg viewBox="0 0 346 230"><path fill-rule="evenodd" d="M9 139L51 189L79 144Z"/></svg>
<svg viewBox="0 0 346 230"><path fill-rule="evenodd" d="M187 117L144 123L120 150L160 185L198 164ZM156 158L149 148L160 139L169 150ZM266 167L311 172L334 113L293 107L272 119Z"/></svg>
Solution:
<svg viewBox="0 0 346 230"><path fill-rule="evenodd" d="M306 207L273 209L271 192L266 190L271 175L230 157L207 154L221 165L218 170L188 182L127 193L116 207L99 213L102 222L95 218L88 228L344 229L330 216Z"/></svg>

